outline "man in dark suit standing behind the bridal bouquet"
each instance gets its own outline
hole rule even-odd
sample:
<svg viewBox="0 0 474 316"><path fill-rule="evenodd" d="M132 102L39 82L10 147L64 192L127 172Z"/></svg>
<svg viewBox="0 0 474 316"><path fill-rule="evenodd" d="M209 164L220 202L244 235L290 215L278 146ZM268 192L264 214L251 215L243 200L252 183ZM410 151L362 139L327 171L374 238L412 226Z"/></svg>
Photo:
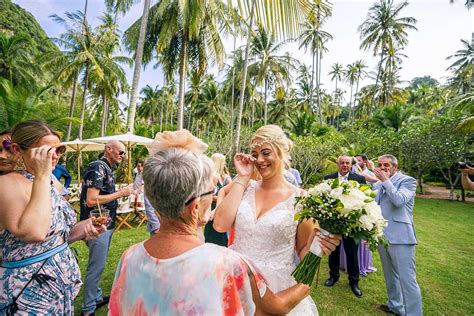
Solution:
<svg viewBox="0 0 474 316"><path fill-rule="evenodd" d="M327 175L326 179L339 179L339 181L357 181L359 183L366 183L365 178L356 173L350 172L352 165L352 159L348 156L339 156L337 158L338 172ZM344 251L346 252L347 258L347 274L349 277L349 285L354 295L362 296L362 291L359 289L359 258L357 251L358 245L354 239L350 237L343 237L342 243L344 245ZM336 250L331 252L329 255L329 279L326 280L324 285L333 286L339 280L339 254L341 245L336 247Z"/></svg>

